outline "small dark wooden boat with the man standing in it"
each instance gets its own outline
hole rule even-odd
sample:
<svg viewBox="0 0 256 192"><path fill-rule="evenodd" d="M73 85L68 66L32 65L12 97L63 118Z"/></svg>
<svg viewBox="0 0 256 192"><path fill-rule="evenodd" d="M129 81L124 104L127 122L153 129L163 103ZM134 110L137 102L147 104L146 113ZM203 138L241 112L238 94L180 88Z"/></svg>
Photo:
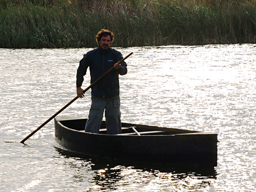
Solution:
<svg viewBox="0 0 256 192"><path fill-rule="evenodd" d="M87 119L54 118L58 144L78 153L134 162L217 166L217 134L122 123L122 134L84 132ZM136 133L137 132L137 133Z"/></svg>

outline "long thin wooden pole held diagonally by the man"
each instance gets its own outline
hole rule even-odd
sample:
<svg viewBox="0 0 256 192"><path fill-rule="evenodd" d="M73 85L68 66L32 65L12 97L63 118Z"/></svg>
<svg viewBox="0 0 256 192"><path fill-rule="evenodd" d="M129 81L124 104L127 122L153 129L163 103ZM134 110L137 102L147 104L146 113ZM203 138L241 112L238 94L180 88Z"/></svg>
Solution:
<svg viewBox="0 0 256 192"><path fill-rule="evenodd" d="M122 63L124 60L126 60L126 58L128 58L131 54L133 54L133 52L131 52L130 54L128 54L125 58L123 58L121 61L119 61L118 63ZM92 84L90 84L90 86L88 86L83 93L85 93L86 91L88 91L92 86L94 86L98 81L100 81L106 74L108 74L110 71L112 71L114 69L114 66L108 70L106 73L104 73L100 78L98 78L96 81L94 81ZM45 126L50 120L52 120L54 117L56 117L58 114L60 114L60 112L62 112L64 109L66 109L68 106L70 106L70 104L72 104L75 100L78 99L78 96L76 96L74 99L72 99L68 104L66 104L63 108L61 108L58 112L56 112L53 116L51 116L48 120L46 120L46 122L44 122L42 125L40 125L36 130L34 130L32 133L30 133L28 136L26 136L26 138L24 138L21 143L24 143L28 138L30 138L32 135L34 135L38 130L40 130L40 128L42 128L43 126Z"/></svg>

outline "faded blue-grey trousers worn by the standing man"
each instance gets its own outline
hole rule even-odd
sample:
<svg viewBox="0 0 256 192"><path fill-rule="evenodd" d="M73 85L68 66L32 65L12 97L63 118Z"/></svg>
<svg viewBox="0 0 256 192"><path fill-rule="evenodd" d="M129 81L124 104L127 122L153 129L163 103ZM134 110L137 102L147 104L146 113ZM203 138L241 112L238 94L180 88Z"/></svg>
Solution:
<svg viewBox="0 0 256 192"><path fill-rule="evenodd" d="M114 100L92 100L89 118L85 125L85 131L99 133L105 110L107 134L122 133L120 98Z"/></svg>

